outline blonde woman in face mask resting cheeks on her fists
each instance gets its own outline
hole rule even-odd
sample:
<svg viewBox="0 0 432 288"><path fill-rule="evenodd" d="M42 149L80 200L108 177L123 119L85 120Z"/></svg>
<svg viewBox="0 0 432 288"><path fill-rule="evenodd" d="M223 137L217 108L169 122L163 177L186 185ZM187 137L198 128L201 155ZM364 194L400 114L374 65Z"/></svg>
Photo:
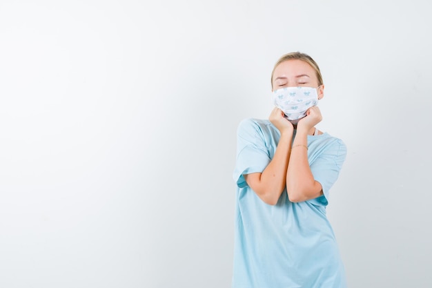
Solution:
<svg viewBox="0 0 432 288"><path fill-rule="evenodd" d="M346 146L315 128L324 97L320 68L291 52L275 64L271 84L269 119L244 119L237 131L232 287L346 287L326 218Z"/></svg>

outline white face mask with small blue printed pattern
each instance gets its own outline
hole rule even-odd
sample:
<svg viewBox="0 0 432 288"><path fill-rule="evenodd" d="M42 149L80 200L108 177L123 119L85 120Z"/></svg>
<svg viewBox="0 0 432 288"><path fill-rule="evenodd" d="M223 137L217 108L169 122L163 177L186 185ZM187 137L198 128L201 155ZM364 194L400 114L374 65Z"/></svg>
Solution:
<svg viewBox="0 0 432 288"><path fill-rule="evenodd" d="M286 119L300 119L306 116L308 108L318 104L317 88L286 87L274 90L273 104L285 113Z"/></svg>

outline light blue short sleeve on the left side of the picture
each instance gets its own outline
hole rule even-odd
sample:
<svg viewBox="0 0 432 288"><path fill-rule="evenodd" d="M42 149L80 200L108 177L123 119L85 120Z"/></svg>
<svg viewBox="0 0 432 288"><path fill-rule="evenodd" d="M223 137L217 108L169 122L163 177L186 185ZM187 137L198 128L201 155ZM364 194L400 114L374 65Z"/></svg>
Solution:
<svg viewBox="0 0 432 288"><path fill-rule="evenodd" d="M243 175L262 173L270 161L262 127L253 119L244 119L237 128L237 158L233 172L237 186L246 186Z"/></svg>

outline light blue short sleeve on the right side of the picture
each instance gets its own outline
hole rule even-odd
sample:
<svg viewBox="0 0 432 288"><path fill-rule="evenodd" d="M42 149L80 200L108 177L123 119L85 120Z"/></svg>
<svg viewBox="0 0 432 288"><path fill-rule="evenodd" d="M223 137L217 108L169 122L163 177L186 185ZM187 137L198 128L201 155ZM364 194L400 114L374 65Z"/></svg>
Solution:
<svg viewBox="0 0 432 288"><path fill-rule="evenodd" d="M326 206L328 204L329 192L342 169L346 158L346 145L342 140L335 139L328 144L324 153L311 163L313 177L322 186L322 195L319 198L310 200L313 204Z"/></svg>

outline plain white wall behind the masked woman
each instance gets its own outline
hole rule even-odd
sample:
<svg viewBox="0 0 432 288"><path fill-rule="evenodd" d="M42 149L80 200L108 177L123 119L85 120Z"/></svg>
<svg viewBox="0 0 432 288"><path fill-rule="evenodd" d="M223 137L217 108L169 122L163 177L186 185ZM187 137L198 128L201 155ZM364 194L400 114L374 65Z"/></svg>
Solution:
<svg viewBox="0 0 432 288"><path fill-rule="evenodd" d="M0 287L229 287L235 131L320 65L351 288L431 287L429 1L1 1Z"/></svg>

